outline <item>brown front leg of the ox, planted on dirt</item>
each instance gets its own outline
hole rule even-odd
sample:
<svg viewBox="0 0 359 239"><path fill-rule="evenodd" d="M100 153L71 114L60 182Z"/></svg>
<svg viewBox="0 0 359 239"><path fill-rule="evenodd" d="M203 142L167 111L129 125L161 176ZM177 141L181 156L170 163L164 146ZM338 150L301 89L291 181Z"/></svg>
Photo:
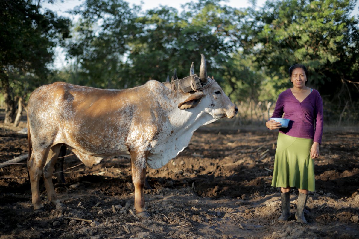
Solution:
<svg viewBox="0 0 359 239"><path fill-rule="evenodd" d="M139 155L131 152L132 182L135 186L135 209L139 218L149 218L150 214L145 209L143 186L146 180L146 154Z"/></svg>

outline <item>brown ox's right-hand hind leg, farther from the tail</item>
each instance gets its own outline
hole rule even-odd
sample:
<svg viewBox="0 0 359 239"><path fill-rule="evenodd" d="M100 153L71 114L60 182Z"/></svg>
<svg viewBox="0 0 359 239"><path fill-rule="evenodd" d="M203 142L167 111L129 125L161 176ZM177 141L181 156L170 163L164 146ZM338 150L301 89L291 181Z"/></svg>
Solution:
<svg viewBox="0 0 359 239"><path fill-rule="evenodd" d="M52 174L53 174L53 167L57 162L57 157L59 156L61 145L55 145L50 149L50 152L47 156L46 165L43 168L43 180L46 187L47 197L54 205L60 203L60 200L57 198L55 189L53 188L52 183Z"/></svg>

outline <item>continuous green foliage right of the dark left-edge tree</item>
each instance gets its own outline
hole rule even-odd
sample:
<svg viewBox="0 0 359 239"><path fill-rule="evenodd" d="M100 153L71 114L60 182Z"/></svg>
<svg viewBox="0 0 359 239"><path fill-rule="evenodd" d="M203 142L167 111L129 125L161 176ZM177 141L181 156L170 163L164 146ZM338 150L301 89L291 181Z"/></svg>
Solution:
<svg viewBox="0 0 359 239"><path fill-rule="evenodd" d="M220 0L140 12L122 0L87 0L69 56L69 81L103 88L164 81L174 69L198 73L205 54L214 76L233 101L275 101L291 87L288 68L302 63L309 86L331 99L353 98L358 72L358 19L354 1L276 0L259 10L230 8ZM354 84L355 85L355 84ZM333 90L335 89L335 90ZM339 98L337 96L340 96ZM358 94L357 94L358 95Z"/></svg>

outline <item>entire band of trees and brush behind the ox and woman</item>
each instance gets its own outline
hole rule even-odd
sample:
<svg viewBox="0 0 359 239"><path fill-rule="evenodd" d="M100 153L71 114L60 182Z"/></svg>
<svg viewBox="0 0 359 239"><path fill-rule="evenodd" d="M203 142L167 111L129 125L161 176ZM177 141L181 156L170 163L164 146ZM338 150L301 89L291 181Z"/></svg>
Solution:
<svg viewBox="0 0 359 239"><path fill-rule="evenodd" d="M56 0L47 0L53 3ZM194 0L181 11L141 11L125 0L85 0L78 20L43 9L42 0L0 2L0 86L5 122L36 87L55 81L123 89L188 76L200 54L242 109L237 123L268 119L278 94L291 86L288 68L308 67L308 86L323 98L326 123L358 125L359 29L355 0L273 0L232 8ZM71 63L55 69L56 46ZM1 99L1 97L0 97ZM26 99L25 99L26 101Z"/></svg>

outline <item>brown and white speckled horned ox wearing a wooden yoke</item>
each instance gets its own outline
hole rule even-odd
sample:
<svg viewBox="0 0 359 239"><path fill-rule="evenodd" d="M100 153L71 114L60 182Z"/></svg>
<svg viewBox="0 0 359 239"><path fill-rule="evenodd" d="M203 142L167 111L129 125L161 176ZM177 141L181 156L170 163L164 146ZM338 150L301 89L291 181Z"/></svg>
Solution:
<svg viewBox="0 0 359 239"><path fill-rule="evenodd" d="M233 118L237 112L218 83L206 76L203 55L200 76L194 74L192 63L190 76L174 81L171 89L158 81L125 90L64 82L41 86L28 102L27 166L34 210L43 210L41 175L48 199L60 203L52 173L65 145L87 167L108 156L131 158L136 215L148 218L143 195L146 166L164 166L187 147L201 125Z"/></svg>

